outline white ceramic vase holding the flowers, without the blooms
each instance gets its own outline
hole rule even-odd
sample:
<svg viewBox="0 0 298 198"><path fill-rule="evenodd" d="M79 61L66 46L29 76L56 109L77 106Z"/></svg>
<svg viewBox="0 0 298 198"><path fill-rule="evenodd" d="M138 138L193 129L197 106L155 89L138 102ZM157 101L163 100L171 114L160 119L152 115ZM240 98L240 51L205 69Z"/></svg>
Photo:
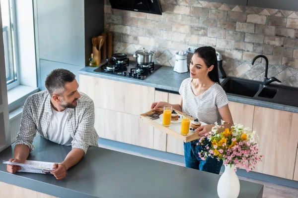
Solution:
<svg viewBox="0 0 298 198"><path fill-rule="evenodd" d="M224 165L224 174L218 183L220 198L237 198L240 192L240 183L234 165Z"/></svg>

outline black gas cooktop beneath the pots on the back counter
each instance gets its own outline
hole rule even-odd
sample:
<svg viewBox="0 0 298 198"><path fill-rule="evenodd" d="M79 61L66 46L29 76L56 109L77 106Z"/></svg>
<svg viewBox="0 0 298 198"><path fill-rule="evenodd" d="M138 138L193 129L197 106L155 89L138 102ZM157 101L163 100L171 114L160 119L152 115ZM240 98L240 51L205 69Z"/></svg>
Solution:
<svg viewBox="0 0 298 198"><path fill-rule="evenodd" d="M109 60L94 71L144 80L160 67L161 65L154 64L154 62L151 62L149 65L139 65L137 62L129 61L127 58L122 59L120 62L118 60Z"/></svg>

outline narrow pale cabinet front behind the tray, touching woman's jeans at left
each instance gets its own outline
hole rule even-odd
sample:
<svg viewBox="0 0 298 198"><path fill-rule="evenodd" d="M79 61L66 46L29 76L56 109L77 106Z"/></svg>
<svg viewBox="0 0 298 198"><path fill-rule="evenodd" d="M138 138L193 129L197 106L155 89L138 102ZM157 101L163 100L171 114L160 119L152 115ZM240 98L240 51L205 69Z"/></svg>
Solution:
<svg viewBox="0 0 298 198"><path fill-rule="evenodd" d="M170 104L178 104L180 102L179 94L169 94L169 103ZM184 147L183 142L181 140L175 139L172 136L167 136L166 138L166 151L184 155Z"/></svg>

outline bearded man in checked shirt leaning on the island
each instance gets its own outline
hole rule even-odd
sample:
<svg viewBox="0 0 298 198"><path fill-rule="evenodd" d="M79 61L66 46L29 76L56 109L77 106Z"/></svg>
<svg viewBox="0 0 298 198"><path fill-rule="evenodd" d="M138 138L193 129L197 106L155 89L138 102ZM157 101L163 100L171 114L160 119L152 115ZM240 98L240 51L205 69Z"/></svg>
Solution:
<svg viewBox="0 0 298 198"><path fill-rule="evenodd" d="M66 69L55 69L45 82L47 90L28 97L24 104L20 131L17 134L12 162L24 163L34 149L36 132L45 139L72 146L65 160L54 164L52 174L57 180L86 153L89 146L98 146L94 129L94 103L77 91L75 75ZM19 166L7 165L15 173Z"/></svg>

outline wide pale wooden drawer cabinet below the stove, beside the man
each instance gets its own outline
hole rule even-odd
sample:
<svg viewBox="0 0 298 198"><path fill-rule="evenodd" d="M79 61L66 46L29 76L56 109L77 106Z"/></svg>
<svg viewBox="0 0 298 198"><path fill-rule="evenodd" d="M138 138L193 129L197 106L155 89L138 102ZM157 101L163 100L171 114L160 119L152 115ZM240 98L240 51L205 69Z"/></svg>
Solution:
<svg viewBox="0 0 298 198"><path fill-rule="evenodd" d="M154 101L154 88L86 75L79 79L80 91L94 101L100 138L153 148L153 127L139 115Z"/></svg>

